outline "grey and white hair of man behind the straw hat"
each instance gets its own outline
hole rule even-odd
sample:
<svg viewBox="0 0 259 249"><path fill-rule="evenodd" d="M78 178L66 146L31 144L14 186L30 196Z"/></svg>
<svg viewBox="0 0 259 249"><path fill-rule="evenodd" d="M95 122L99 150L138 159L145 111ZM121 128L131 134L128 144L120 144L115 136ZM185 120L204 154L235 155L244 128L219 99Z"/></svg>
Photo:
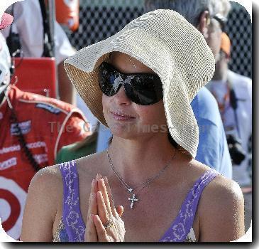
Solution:
<svg viewBox="0 0 259 249"><path fill-rule="evenodd" d="M220 13L226 17L231 5L228 0L145 0L145 12L154 11L155 9L177 11L189 23L197 27L199 16L203 11L209 11L211 16Z"/></svg>

